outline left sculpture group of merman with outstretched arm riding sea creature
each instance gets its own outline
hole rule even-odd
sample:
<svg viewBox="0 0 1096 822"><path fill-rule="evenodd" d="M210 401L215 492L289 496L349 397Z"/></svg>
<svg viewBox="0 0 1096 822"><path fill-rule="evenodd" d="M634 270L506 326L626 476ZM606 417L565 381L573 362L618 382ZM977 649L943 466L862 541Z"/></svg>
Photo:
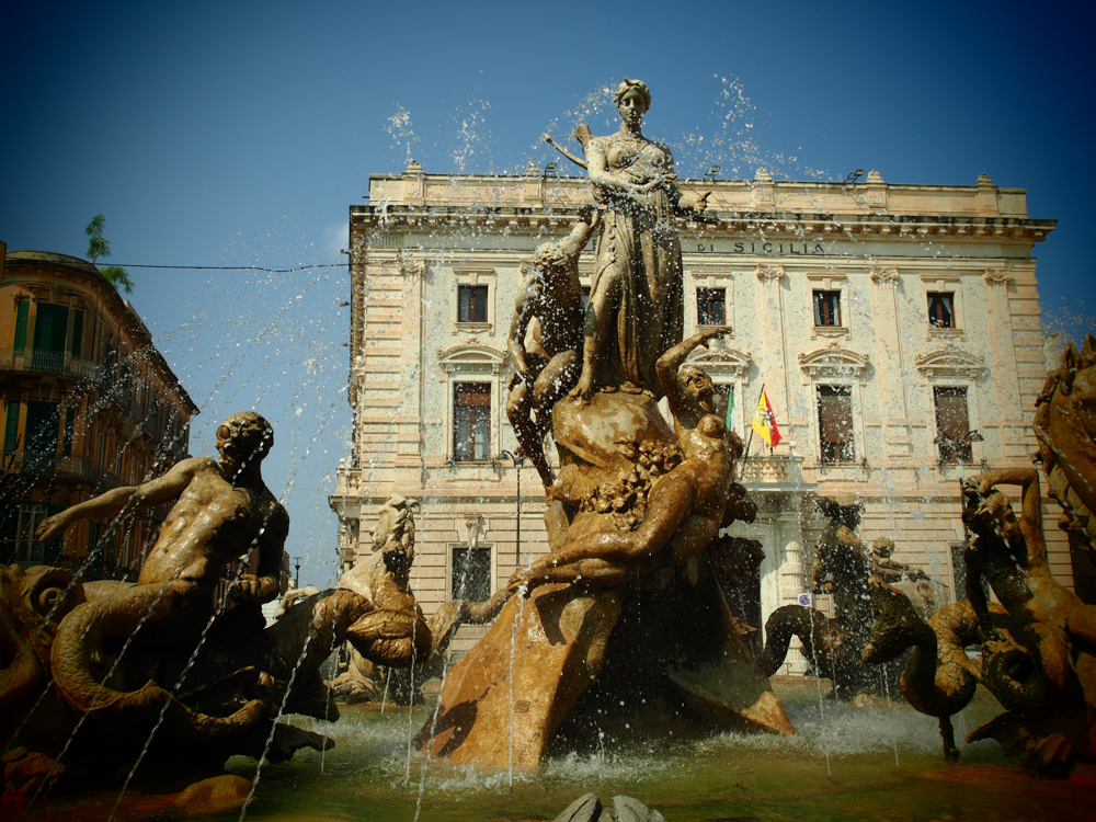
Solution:
<svg viewBox="0 0 1096 822"><path fill-rule="evenodd" d="M387 665L429 651L422 613L387 570L363 592L305 596L265 627L260 603L282 587L289 525L262 480L272 444L262 416L233 414L217 430L218 460L184 460L39 526L38 539L54 539L77 520L179 496L136 584L0 567L0 640L11 649L0 672L0 735L21 752L9 765L26 777L15 794L58 778L76 785L81 774L111 784L146 751L157 767L189 774L216 770L233 754L281 762L305 745L330 746L276 720L338 717L319 676L333 648L350 641ZM218 595L229 563L253 549L259 573ZM61 750L65 761L45 769L20 765Z"/></svg>

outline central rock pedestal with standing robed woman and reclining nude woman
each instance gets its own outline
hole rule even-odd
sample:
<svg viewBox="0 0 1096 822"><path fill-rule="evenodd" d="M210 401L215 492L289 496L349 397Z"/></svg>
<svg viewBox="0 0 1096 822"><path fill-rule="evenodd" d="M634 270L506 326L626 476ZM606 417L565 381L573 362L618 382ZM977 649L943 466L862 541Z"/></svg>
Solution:
<svg viewBox="0 0 1096 822"><path fill-rule="evenodd" d="M454 763L532 768L606 737L795 732L706 550L756 506L732 479L742 443L712 413L710 378L682 367L726 332L682 342L675 219L707 201L682 194L670 151L643 137L650 100L625 80L620 130L576 130L601 221L582 369L550 408L561 466L546 494L550 553L511 578L515 595L449 670L436 723L416 738ZM536 401L539 423L549 408ZM518 422L528 413L520 409Z"/></svg>

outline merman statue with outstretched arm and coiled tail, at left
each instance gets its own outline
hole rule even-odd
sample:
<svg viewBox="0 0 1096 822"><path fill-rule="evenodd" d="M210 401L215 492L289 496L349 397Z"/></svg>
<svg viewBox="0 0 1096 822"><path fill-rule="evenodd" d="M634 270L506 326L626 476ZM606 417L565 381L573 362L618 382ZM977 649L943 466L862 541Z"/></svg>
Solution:
<svg viewBox="0 0 1096 822"><path fill-rule="evenodd" d="M103 716L123 711L129 718L152 719L167 701L175 708L168 718L199 734L202 730L216 733L217 727L238 731L260 718L258 699L232 717L199 718L152 682L138 690L119 692L101 684L93 672L106 674L109 663L98 659L96 647L109 637L127 638L137 631L134 642L138 647L194 649L214 615L217 585L226 569L253 549L259 552L259 573L242 575L230 596L244 604L277 596L289 515L262 478L262 460L273 442L274 431L262 416L250 411L233 414L217 429L218 459L184 459L159 479L113 489L42 522L36 538L52 541L80 520L110 520L123 511L179 498L137 584L91 600L62 621L52 657L56 684L66 701Z"/></svg>

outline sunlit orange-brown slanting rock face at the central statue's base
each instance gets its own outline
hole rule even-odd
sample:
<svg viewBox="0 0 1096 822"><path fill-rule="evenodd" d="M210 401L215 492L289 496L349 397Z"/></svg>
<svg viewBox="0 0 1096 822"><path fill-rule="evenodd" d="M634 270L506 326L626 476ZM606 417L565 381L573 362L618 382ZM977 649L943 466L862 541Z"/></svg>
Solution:
<svg viewBox="0 0 1096 822"><path fill-rule="evenodd" d="M435 756L488 767L535 768L556 729L596 680L620 613L612 591L545 585L514 596L494 627L448 672L437 724L416 744Z"/></svg>

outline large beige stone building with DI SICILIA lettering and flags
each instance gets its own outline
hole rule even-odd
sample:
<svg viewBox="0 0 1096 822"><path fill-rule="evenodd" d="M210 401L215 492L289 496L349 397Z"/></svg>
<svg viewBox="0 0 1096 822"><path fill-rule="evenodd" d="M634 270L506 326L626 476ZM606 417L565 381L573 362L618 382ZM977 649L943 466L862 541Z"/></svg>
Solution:
<svg viewBox="0 0 1096 822"><path fill-rule="evenodd" d="M891 537L897 559L954 596L959 479L1029 466L1035 449L1047 369L1032 250L1054 220L1030 218L1024 190L985 175L895 185L872 171L842 185L758 170L683 185L710 190L718 217L680 225L685 333L733 327L699 359L744 438L763 386L784 436L772 453L753 438L742 481L761 513L734 526L765 547L764 615L806 590L811 500L840 491L864 500L864 538ZM351 207L354 446L331 505L352 563L369 557L390 493L421 501L413 585L427 613L486 596L546 550L536 471L504 454L516 448L506 336L523 262L589 202L584 178L412 162L373 175L368 205ZM595 241L580 261L587 285ZM1069 584L1069 545L1047 512Z"/></svg>

